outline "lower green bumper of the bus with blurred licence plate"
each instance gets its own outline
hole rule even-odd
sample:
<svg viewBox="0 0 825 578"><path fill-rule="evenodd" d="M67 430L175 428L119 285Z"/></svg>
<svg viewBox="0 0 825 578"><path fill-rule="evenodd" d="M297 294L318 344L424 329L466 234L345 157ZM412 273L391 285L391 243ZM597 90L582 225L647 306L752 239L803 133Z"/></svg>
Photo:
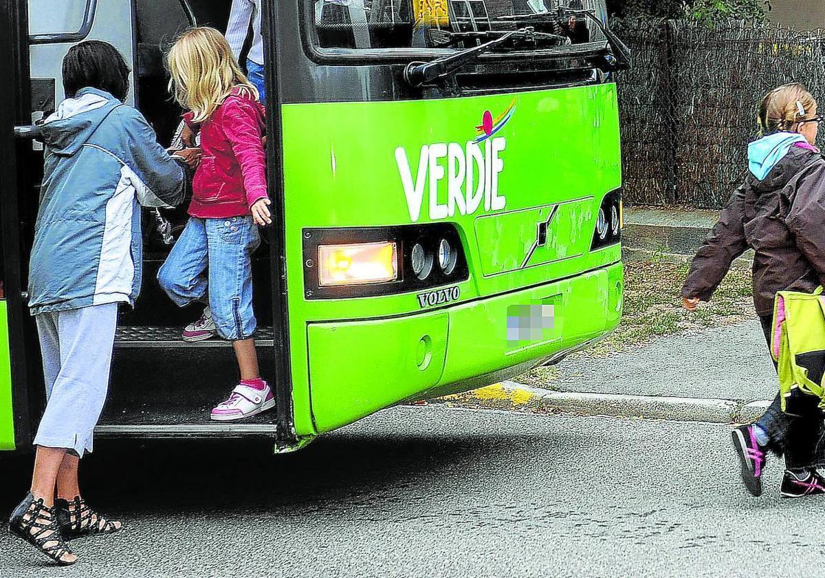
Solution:
<svg viewBox="0 0 825 578"><path fill-rule="evenodd" d="M623 289L615 263L417 315L310 324L316 432L400 401L486 386L598 339L618 325Z"/></svg>

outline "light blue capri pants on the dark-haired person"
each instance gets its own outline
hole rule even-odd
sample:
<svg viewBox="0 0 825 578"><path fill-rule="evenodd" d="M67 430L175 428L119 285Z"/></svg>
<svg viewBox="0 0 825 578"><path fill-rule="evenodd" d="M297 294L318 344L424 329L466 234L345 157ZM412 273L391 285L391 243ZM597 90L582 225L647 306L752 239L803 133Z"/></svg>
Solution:
<svg viewBox="0 0 825 578"><path fill-rule="evenodd" d="M43 353L46 410L35 445L83 457L109 390L117 303L35 316Z"/></svg>

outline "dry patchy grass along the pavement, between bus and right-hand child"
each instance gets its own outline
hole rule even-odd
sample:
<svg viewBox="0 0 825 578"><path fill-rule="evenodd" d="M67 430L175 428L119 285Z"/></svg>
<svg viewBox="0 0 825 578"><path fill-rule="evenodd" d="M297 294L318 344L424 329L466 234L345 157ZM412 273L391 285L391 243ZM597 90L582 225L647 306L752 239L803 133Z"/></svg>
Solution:
<svg viewBox="0 0 825 578"><path fill-rule="evenodd" d="M625 308L619 328L576 357L606 356L627 351L664 335L691 329L729 325L756 316L750 268L728 272L709 303L691 313L682 308L681 287L690 263L672 263L654 255L648 261L625 263ZM552 389L555 367L539 367L521 381Z"/></svg>

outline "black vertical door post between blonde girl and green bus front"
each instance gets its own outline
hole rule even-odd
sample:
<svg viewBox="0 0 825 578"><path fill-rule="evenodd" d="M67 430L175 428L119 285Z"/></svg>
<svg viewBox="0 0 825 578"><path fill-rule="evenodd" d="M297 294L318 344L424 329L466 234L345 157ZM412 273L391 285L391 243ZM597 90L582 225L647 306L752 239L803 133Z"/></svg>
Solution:
<svg viewBox="0 0 825 578"><path fill-rule="evenodd" d="M286 287L286 239L284 213L284 141L281 129L281 79L278 71L280 51L277 42L279 12L285 9L279 0L263 0L262 35L264 40L264 76L266 78L266 178L272 201L272 225L267 235L270 241L270 269L272 276L272 330L275 343L275 399L277 439L285 445L295 444L292 413L292 372L290 361L290 320ZM294 6L294 3L292 4ZM288 8L287 8L288 9Z"/></svg>

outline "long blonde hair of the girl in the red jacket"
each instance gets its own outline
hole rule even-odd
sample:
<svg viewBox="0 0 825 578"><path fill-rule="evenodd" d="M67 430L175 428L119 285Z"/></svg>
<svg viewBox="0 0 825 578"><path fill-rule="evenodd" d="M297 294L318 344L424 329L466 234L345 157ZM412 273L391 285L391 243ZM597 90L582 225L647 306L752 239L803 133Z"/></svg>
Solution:
<svg viewBox="0 0 825 578"><path fill-rule="evenodd" d="M169 92L203 122L234 88L258 100L257 88L241 72L224 35L209 26L190 28L177 37L168 56Z"/></svg>

